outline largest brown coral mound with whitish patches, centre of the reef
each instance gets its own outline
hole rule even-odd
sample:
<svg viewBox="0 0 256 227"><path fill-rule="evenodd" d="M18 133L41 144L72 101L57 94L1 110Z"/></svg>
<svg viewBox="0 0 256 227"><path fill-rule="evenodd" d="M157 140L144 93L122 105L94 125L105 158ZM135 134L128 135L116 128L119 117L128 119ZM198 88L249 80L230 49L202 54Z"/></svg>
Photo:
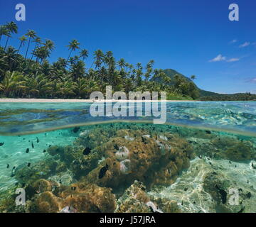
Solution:
<svg viewBox="0 0 256 227"><path fill-rule="evenodd" d="M145 132L132 133L140 135ZM141 136L132 141L120 137L111 138L98 148L105 154L106 159L85 177L86 180L100 187L113 189L120 189L120 185L125 189L135 179L144 182L146 187L174 183L181 170L189 166L193 150L186 140L170 133L165 136L168 141L156 140L153 136L144 138L144 141ZM118 151L114 145L117 145ZM122 162L123 160L126 161ZM108 165L108 170L105 176L99 179L97 175L105 165Z"/></svg>

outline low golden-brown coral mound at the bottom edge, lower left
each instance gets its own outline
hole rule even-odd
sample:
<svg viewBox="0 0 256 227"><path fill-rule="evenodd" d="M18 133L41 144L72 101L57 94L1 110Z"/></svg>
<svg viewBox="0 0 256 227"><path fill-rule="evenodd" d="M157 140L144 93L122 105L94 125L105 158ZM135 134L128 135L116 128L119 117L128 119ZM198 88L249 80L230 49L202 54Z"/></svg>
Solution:
<svg viewBox="0 0 256 227"><path fill-rule="evenodd" d="M72 188L72 189L71 189ZM75 190L74 190L75 188ZM113 212L116 207L111 189L98 187L95 184L72 184L63 187L58 192L43 192L36 194L29 205L30 212L57 213L72 208L78 213L83 212Z"/></svg>

